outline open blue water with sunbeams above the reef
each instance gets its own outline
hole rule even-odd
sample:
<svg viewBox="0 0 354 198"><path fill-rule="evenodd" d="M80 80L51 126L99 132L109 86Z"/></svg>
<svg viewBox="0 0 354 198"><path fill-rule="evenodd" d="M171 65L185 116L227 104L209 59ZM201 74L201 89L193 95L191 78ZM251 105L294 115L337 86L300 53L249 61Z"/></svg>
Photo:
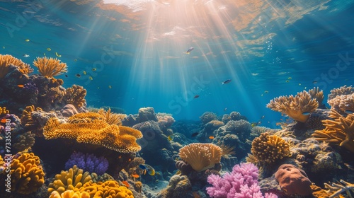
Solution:
<svg viewBox="0 0 354 198"><path fill-rule="evenodd" d="M156 1L135 10L98 0L0 1L0 53L28 64L59 54L69 72L58 78L84 86L88 105L127 114L154 107L176 120L237 111L250 122L265 115L262 125L274 128L281 115L265 107L270 99L353 85L354 1L247 2Z"/></svg>

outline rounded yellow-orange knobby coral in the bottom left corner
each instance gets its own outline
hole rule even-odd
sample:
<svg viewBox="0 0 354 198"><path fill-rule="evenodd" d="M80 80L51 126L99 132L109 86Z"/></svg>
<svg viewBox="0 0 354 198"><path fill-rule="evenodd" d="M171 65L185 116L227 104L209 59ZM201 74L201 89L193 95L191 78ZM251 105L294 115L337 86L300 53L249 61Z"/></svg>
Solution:
<svg viewBox="0 0 354 198"><path fill-rule="evenodd" d="M33 153L23 153L11 162L11 191L20 194L35 192L44 183L45 173L40 158Z"/></svg>

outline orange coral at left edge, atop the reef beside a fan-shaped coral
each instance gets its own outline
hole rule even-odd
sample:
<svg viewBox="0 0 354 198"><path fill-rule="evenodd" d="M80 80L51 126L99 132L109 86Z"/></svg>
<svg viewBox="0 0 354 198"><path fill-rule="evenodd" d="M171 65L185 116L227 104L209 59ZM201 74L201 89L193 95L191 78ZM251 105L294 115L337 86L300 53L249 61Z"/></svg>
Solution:
<svg viewBox="0 0 354 198"><path fill-rule="evenodd" d="M30 74L33 72L33 69L29 64L25 64L21 61L21 59L16 59L15 57L9 54L0 54L0 78L3 78L8 74L10 65L18 67L18 70L21 71L22 74Z"/></svg>

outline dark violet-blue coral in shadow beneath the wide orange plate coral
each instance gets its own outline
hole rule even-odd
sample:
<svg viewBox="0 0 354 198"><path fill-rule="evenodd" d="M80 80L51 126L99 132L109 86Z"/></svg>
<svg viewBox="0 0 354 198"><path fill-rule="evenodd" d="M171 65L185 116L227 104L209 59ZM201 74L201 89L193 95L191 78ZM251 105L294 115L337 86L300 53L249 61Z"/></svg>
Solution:
<svg viewBox="0 0 354 198"><path fill-rule="evenodd" d="M69 168L72 168L74 165L89 173L97 173L97 175L103 175L108 169L108 161L106 158L97 158L93 154L84 154L81 152L72 153L72 156L70 156L67 163L65 163L65 169L69 170Z"/></svg>

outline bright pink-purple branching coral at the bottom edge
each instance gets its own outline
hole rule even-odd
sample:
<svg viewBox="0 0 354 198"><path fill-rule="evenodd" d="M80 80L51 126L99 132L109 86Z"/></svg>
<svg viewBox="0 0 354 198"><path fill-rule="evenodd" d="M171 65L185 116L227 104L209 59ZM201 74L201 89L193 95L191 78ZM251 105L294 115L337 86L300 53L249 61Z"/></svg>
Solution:
<svg viewBox="0 0 354 198"><path fill-rule="evenodd" d="M263 198L258 185L258 168L252 163L241 163L232 168L231 173L223 177L209 175L212 187L207 187L207 194L214 198ZM275 198L275 194L265 193L265 198Z"/></svg>

